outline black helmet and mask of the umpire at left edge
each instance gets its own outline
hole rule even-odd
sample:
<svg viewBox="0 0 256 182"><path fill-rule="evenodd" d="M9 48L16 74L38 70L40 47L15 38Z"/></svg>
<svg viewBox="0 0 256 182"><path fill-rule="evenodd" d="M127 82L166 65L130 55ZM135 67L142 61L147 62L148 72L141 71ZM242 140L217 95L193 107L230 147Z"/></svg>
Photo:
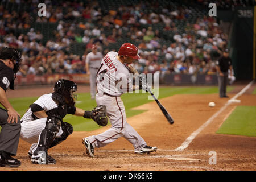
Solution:
<svg viewBox="0 0 256 182"><path fill-rule="evenodd" d="M13 72L17 73L19 71L21 61L22 61L22 56L20 55L20 52L17 51L16 49L3 47L0 51L0 59L15 60Z"/></svg>

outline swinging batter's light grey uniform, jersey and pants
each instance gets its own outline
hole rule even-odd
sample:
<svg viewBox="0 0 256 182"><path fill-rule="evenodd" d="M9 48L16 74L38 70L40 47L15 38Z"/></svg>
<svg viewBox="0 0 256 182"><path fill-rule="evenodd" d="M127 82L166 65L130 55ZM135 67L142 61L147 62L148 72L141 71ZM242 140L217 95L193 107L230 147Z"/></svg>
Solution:
<svg viewBox="0 0 256 182"><path fill-rule="evenodd" d="M141 150L146 146L144 139L127 123L125 106L121 100L124 90L118 89L118 82L126 80L131 82L129 78L129 70L117 59L117 52L109 52L102 59L100 69L97 72L97 105L106 105L107 115L112 127L104 133L86 137L93 147L103 147L108 143L114 142L119 137L125 137L133 144L135 151ZM132 84L129 84L132 89ZM122 92L123 91L123 92Z"/></svg>

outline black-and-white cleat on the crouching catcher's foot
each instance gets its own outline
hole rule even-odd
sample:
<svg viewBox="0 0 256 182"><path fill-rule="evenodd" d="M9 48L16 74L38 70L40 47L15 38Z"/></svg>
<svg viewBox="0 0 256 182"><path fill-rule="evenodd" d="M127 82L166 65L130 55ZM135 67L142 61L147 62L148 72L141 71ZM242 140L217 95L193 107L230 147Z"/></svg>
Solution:
<svg viewBox="0 0 256 182"><path fill-rule="evenodd" d="M31 162L35 164L56 164L55 159L44 151L38 152L38 155L32 155Z"/></svg>

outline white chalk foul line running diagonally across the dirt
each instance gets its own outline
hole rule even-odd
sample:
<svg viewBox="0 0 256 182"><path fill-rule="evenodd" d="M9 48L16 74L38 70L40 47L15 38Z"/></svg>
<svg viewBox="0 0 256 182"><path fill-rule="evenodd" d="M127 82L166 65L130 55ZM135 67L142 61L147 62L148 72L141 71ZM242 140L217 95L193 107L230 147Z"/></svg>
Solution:
<svg viewBox="0 0 256 182"><path fill-rule="evenodd" d="M249 89L251 87L251 85L253 85L254 80L251 81L245 88L243 88L239 93L236 94L236 96L232 97L230 100L234 100L237 97L241 96L243 93L246 92L247 89ZM217 111L217 113L213 114L212 117L210 117L202 126L199 127L199 129L197 129L196 131L194 131L187 139L185 139L185 141L181 144L180 147L177 147L174 151L183 151L185 148L187 148L189 146L189 144L193 141L193 139L195 139L195 137L203 130L205 129L205 127L207 127L209 125L210 122L213 121L213 119L215 119L218 114L220 114L222 111L224 111L226 109L226 107L228 107L228 105L230 105L231 103L228 101L226 102L226 104L221 107L220 110Z"/></svg>

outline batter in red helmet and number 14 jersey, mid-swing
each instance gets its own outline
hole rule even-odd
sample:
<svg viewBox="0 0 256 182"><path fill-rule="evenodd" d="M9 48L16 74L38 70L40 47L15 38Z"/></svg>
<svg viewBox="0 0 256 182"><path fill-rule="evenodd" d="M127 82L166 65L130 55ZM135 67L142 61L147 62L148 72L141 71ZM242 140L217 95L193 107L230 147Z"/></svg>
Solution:
<svg viewBox="0 0 256 182"><path fill-rule="evenodd" d="M135 89L131 84L130 71L126 64L138 59L138 48L133 44L125 43L118 52L107 53L101 61L96 79L98 90L96 102L98 105L106 105L112 127L104 133L82 139L86 152L91 157L94 157L95 147L103 147L119 137L125 137L133 144L135 153L142 154L157 150L157 147L147 146L144 139L127 123L125 106L120 97L127 90ZM120 82L126 84L119 84Z"/></svg>

